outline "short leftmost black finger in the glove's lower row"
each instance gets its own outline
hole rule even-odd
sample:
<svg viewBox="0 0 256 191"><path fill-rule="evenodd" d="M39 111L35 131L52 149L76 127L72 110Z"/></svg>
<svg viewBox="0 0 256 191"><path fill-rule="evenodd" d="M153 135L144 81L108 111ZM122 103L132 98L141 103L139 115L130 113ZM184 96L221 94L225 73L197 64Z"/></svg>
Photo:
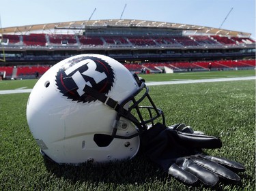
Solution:
<svg viewBox="0 0 256 191"><path fill-rule="evenodd" d="M197 177L187 171L184 171L178 167L177 164L172 164L171 167L169 167L168 174L182 181L184 184L190 186L197 184Z"/></svg>

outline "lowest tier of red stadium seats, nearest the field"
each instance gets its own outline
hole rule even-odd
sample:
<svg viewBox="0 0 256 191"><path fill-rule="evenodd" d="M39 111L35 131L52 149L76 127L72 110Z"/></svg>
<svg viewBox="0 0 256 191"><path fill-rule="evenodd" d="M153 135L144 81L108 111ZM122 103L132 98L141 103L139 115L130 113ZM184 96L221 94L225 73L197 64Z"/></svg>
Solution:
<svg viewBox="0 0 256 191"><path fill-rule="evenodd" d="M236 69L236 68L255 68L255 59L252 60L212 60L212 61L195 61L195 62L167 62L167 63L133 63L124 64L124 66L132 73L141 73L145 68L146 73L160 73L164 67L169 67L173 71L196 71L196 70L223 70L223 69ZM0 71L6 72L6 77L12 76L14 67L0 67ZM18 66L16 77L18 78L31 78L38 77L44 74L50 68L49 65L26 65Z"/></svg>

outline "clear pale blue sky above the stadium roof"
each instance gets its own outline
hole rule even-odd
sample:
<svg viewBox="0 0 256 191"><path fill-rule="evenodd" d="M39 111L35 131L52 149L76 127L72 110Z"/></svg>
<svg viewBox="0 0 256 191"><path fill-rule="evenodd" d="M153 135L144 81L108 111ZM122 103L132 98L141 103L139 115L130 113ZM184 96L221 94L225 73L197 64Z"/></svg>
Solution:
<svg viewBox="0 0 256 191"><path fill-rule="evenodd" d="M255 0L0 0L2 27L29 24L119 19L195 24L252 33Z"/></svg>

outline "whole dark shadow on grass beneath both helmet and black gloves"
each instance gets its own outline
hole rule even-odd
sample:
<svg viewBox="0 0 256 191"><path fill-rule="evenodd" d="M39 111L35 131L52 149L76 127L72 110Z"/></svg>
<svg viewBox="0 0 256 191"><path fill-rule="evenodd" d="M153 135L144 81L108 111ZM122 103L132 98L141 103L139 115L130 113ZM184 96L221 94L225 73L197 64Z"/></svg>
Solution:
<svg viewBox="0 0 256 191"><path fill-rule="evenodd" d="M195 187L185 186L179 181L169 177L165 171L158 168L154 163L148 160L143 154L139 153L132 160L108 162L105 164L83 163L79 166L59 165L50 160L44 159L46 169L49 173L57 177L72 181L72 184L83 184L90 182L95 186L100 184L132 184L132 185L151 185L155 181L169 184L170 189L174 190L240 190L244 188L243 182L239 184L227 184L220 179L220 182L212 188L197 184ZM246 173L240 173L241 179L248 179ZM173 184L174 183L174 184ZM147 187L146 186L146 187Z"/></svg>

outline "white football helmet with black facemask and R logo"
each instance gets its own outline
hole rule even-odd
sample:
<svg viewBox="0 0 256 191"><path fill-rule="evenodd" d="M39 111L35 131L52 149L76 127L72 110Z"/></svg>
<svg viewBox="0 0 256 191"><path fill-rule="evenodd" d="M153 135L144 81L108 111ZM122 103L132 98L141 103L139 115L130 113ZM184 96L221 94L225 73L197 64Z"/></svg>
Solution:
<svg viewBox="0 0 256 191"><path fill-rule="evenodd" d="M150 106L139 105L145 98ZM143 80L98 54L72 56L48 69L27 102L41 153L59 164L132 158L139 135L160 116L165 123Z"/></svg>

